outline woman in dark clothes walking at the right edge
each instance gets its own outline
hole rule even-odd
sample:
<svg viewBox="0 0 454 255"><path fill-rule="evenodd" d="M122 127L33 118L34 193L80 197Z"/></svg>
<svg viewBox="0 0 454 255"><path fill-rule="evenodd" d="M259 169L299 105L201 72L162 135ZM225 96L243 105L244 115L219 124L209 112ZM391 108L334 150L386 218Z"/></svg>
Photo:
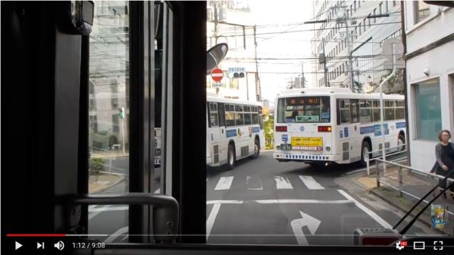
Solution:
<svg viewBox="0 0 454 255"><path fill-rule="evenodd" d="M441 176L448 176L448 178L453 178L454 174L454 144L449 142L451 138L451 134L448 130L441 130L438 133L438 140L440 143L435 147L435 155L436 155L436 162L433 165L431 173L435 172L435 174ZM438 188L445 188L446 181L443 179L438 179ZM453 192L453 188L450 189ZM453 193L449 193L450 198L453 198ZM443 194L444 198L446 197L446 193Z"/></svg>

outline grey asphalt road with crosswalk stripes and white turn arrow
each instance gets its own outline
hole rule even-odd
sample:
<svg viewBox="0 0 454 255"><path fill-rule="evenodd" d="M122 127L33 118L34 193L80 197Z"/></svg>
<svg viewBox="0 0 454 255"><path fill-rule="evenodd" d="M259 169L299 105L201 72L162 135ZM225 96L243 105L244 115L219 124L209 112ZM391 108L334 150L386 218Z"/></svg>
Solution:
<svg viewBox="0 0 454 255"><path fill-rule="evenodd" d="M353 181L348 178L355 171L360 168L279 163L272 152L240 160L231 171L209 169L207 243L353 245L355 228L394 225L402 212L367 197L363 189L350 193L348 186ZM124 192L126 183L127 179L105 193ZM120 205L91 207L89 233L111 235L101 240L105 242L127 242L127 209ZM409 234L433 232L415 225Z"/></svg>

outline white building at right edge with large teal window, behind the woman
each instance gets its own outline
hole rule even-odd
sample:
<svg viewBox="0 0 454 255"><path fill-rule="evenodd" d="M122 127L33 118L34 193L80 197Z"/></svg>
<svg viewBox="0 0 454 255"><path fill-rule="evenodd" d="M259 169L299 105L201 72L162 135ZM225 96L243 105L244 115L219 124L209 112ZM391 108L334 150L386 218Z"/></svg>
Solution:
<svg viewBox="0 0 454 255"><path fill-rule="evenodd" d="M438 132L454 131L454 9L404 6L411 166L430 171Z"/></svg>

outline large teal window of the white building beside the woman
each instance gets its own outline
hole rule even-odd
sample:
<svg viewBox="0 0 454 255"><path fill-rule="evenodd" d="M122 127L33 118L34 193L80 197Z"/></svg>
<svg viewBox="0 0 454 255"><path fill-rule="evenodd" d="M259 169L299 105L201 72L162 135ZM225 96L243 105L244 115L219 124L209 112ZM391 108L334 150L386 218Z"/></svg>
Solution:
<svg viewBox="0 0 454 255"><path fill-rule="evenodd" d="M441 130L440 80L413 85L416 139L437 141Z"/></svg>

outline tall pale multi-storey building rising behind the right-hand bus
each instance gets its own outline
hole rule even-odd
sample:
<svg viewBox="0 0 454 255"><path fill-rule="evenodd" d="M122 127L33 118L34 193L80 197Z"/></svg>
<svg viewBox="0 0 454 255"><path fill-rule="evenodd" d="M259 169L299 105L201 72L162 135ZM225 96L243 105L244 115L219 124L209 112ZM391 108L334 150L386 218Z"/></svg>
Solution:
<svg viewBox="0 0 454 255"><path fill-rule="evenodd" d="M322 21L314 23L312 39L314 86L353 84L359 93L375 90L389 73L383 42L402 33L400 2L314 1L311 21Z"/></svg>

